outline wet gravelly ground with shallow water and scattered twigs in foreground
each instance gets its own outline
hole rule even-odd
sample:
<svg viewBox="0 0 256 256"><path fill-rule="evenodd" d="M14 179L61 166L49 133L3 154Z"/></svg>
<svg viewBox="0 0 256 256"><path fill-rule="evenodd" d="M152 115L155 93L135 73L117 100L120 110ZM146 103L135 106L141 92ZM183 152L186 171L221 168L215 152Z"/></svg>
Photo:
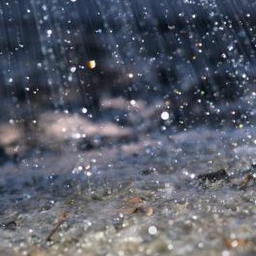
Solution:
<svg viewBox="0 0 256 256"><path fill-rule="evenodd" d="M255 137L199 127L86 150L73 139L7 161L1 254L255 255Z"/></svg>

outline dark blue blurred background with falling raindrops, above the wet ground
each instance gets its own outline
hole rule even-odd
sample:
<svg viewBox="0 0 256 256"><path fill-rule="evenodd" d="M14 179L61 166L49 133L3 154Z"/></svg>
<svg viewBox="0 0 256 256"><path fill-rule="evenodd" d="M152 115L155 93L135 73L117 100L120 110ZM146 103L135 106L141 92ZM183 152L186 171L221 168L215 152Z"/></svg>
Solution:
<svg viewBox="0 0 256 256"><path fill-rule="evenodd" d="M11 124L30 140L60 117L132 134L250 126L255 4L1 1L1 137Z"/></svg>

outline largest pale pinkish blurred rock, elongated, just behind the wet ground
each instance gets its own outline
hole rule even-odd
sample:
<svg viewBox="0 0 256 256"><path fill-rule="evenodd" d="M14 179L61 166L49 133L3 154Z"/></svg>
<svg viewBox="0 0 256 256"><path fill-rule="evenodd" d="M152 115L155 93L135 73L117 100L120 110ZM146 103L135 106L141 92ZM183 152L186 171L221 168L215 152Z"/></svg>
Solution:
<svg viewBox="0 0 256 256"><path fill-rule="evenodd" d="M38 119L38 143L57 145L74 139L86 137L88 142L93 138L125 139L132 136L132 129L119 127L110 122L92 122L78 114L45 113ZM91 148L86 142L84 150Z"/></svg>

